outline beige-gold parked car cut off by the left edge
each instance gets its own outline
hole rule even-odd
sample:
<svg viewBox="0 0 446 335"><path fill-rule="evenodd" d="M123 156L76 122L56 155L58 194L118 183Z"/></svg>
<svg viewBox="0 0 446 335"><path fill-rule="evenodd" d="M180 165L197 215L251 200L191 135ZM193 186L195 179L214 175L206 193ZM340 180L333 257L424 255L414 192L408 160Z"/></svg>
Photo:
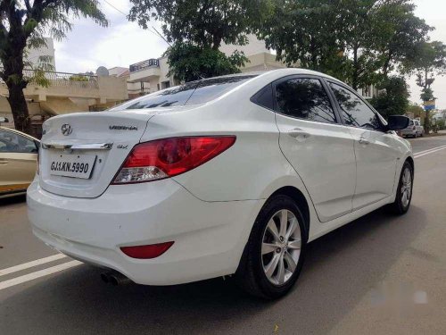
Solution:
<svg viewBox="0 0 446 335"><path fill-rule="evenodd" d="M39 146L37 138L0 127L0 198L26 192L36 174Z"/></svg>

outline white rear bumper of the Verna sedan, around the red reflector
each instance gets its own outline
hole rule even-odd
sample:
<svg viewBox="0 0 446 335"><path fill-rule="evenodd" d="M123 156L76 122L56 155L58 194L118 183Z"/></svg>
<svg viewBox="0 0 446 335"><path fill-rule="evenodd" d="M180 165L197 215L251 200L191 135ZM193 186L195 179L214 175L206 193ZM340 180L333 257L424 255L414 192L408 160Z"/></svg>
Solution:
<svg viewBox="0 0 446 335"><path fill-rule="evenodd" d="M101 197L62 197L35 180L29 221L38 239L63 254L148 285L200 281L234 273L263 200L205 202L174 180L109 187ZM153 259L120 247L174 241Z"/></svg>

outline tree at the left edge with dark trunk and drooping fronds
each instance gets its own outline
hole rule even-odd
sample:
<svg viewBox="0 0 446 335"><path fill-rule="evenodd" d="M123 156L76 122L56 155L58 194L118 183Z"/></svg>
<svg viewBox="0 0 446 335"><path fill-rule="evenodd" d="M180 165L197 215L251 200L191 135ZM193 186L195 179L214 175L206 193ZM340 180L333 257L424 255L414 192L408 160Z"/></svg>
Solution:
<svg viewBox="0 0 446 335"><path fill-rule="evenodd" d="M85 17L106 26L97 0L0 0L0 78L8 87L15 127L29 132L29 111L23 89L29 84L24 75L25 50L45 45L44 33L63 38L71 29L70 18ZM45 66L34 69L35 82L45 84Z"/></svg>

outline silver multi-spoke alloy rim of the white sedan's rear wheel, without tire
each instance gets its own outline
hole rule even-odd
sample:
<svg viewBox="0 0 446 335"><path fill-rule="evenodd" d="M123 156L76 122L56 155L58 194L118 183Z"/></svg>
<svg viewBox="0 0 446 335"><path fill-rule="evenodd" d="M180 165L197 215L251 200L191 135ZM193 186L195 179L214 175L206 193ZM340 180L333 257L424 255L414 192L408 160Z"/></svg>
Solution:
<svg viewBox="0 0 446 335"><path fill-rule="evenodd" d="M282 209L269 220L261 243L261 262L269 282L289 281L301 255L301 228L296 216Z"/></svg>

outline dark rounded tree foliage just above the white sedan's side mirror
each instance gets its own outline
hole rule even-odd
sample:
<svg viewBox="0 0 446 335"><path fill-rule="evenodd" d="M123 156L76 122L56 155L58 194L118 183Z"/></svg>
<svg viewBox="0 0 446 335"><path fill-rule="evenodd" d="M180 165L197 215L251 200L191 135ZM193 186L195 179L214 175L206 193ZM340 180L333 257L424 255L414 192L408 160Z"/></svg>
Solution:
<svg viewBox="0 0 446 335"><path fill-rule="evenodd" d="M376 110L388 118L390 115L402 115L409 107L409 88L403 77L389 77L377 86L379 93L370 103Z"/></svg>

